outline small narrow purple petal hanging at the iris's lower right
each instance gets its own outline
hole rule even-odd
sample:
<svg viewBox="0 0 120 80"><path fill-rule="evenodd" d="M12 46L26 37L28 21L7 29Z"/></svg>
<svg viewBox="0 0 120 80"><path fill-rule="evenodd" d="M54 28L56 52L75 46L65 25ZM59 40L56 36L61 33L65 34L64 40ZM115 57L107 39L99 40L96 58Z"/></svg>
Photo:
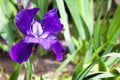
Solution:
<svg viewBox="0 0 120 80"><path fill-rule="evenodd" d="M65 53L65 48L62 46L62 44L59 41L57 41L52 45L52 49L56 54L56 59L58 61L62 60L62 56Z"/></svg>

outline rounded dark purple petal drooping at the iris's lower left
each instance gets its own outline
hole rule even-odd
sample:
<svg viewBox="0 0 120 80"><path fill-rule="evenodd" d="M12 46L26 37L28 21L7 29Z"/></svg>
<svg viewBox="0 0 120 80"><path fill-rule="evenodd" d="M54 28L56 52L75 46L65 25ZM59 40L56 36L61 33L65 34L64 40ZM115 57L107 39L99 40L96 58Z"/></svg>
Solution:
<svg viewBox="0 0 120 80"><path fill-rule="evenodd" d="M32 43L26 43L26 41L22 39L11 48L10 57L17 63L27 61L32 52L33 45Z"/></svg>

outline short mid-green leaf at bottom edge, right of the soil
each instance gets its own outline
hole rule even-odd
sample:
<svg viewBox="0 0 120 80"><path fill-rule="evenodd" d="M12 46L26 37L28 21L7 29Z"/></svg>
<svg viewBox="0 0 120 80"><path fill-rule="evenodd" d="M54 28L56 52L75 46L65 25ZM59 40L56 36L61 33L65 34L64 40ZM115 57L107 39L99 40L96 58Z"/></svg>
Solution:
<svg viewBox="0 0 120 80"><path fill-rule="evenodd" d="M74 80L77 77L77 75L82 72L82 70L83 70L83 64L84 64L84 61L82 60L75 67L74 73L73 73L73 76L72 76L72 80Z"/></svg>

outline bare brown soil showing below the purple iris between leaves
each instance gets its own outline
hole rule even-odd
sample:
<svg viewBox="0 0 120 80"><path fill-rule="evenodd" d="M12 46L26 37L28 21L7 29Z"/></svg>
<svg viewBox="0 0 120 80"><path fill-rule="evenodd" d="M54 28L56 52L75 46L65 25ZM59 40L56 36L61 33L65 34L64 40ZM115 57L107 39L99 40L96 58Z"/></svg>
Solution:
<svg viewBox="0 0 120 80"><path fill-rule="evenodd" d="M8 78L14 71L14 67L12 64L13 62L10 59L8 53L3 52L2 50L0 50L0 52L0 80L8 80ZM46 78L50 79L56 69L61 65L61 63L62 61L56 61L55 55L52 51L49 51L47 55L42 57L37 55L37 57L33 59L35 75L46 75ZM62 73L67 72L67 74L72 75L74 67L74 64L69 63ZM23 80L25 72L26 69L23 67L18 80ZM59 75L62 75L62 73L60 73Z"/></svg>

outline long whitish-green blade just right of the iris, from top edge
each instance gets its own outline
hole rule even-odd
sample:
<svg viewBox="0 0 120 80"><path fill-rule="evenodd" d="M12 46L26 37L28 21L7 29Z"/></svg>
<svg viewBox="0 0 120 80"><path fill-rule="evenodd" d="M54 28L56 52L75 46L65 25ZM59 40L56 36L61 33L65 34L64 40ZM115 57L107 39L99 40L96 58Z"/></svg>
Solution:
<svg viewBox="0 0 120 80"><path fill-rule="evenodd" d="M75 51L75 47L71 40L70 30L69 30L69 26L68 26L68 15L66 14L66 11L65 11L64 2L63 2L63 0L56 0L56 3L58 6L58 9L59 9L60 16L61 16L61 21L64 25L65 40L67 41L67 44L69 44L68 48L69 48L70 52L73 53Z"/></svg>

